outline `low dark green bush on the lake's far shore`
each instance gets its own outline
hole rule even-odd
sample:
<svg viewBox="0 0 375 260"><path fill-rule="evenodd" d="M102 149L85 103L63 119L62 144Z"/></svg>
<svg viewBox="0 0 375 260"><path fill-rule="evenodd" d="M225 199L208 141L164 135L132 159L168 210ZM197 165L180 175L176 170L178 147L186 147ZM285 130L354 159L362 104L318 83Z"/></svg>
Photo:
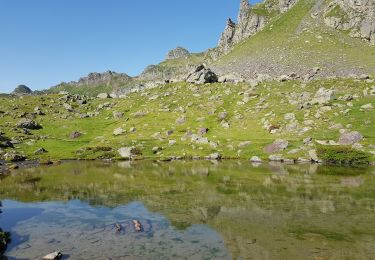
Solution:
<svg viewBox="0 0 375 260"><path fill-rule="evenodd" d="M354 150L350 146L320 146L317 154L327 163L368 164L370 162L368 153Z"/></svg>

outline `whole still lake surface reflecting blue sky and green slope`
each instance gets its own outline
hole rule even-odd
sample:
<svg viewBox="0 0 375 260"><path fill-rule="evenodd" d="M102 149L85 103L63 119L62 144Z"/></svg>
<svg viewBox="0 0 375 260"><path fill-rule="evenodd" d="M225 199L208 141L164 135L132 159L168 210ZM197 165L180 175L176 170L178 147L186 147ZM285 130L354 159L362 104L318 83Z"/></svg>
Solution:
<svg viewBox="0 0 375 260"><path fill-rule="evenodd" d="M375 259L374 167L67 162L0 200L8 259Z"/></svg>

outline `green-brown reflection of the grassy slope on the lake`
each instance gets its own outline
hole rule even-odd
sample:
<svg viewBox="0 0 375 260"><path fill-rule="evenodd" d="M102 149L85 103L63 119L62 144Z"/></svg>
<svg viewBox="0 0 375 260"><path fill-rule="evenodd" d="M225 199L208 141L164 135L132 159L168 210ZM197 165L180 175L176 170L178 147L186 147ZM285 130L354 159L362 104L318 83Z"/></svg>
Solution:
<svg viewBox="0 0 375 260"><path fill-rule="evenodd" d="M340 176L304 174L314 167L253 168L241 161L63 164L1 179L0 199L81 199L111 207L142 201L178 228L214 228L233 257L301 259L322 245L332 258L374 253L372 169L358 169L364 175L355 178L363 184L347 188Z"/></svg>

